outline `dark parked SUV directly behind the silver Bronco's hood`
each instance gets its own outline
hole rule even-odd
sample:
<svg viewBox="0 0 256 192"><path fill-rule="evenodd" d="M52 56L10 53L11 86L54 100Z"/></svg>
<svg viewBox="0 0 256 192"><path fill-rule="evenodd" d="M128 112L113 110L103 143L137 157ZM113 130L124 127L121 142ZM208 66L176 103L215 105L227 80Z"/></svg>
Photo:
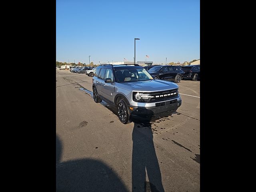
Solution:
<svg viewBox="0 0 256 192"><path fill-rule="evenodd" d="M180 66L161 65L152 67L148 70L150 75L154 75L156 79L170 80L179 83L184 73Z"/></svg>

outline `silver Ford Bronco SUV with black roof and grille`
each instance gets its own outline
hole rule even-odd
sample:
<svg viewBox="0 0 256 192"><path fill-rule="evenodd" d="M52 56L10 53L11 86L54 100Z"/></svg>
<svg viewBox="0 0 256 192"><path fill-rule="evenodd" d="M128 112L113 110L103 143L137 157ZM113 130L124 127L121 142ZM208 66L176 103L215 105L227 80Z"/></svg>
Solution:
<svg viewBox="0 0 256 192"><path fill-rule="evenodd" d="M154 80L138 64L100 65L92 78L93 98L116 106L123 124L133 118L149 120L175 112L181 105L179 86L165 80Z"/></svg>

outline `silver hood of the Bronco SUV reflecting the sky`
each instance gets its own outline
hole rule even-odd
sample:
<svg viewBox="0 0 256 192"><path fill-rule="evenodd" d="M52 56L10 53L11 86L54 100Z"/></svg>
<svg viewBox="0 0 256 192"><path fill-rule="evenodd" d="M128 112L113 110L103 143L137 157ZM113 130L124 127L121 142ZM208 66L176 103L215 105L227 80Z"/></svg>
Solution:
<svg viewBox="0 0 256 192"><path fill-rule="evenodd" d="M166 89L177 89L179 87L176 83L165 80L118 83L117 86L130 91L160 91Z"/></svg>

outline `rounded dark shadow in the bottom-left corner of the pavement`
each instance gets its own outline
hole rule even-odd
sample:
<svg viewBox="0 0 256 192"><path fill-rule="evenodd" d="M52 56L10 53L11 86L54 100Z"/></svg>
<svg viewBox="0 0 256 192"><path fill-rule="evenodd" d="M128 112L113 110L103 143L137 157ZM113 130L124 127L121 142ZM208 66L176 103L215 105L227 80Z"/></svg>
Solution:
<svg viewBox="0 0 256 192"><path fill-rule="evenodd" d="M60 162L61 154L62 144L56 136L56 192L128 192L103 162L88 158Z"/></svg>

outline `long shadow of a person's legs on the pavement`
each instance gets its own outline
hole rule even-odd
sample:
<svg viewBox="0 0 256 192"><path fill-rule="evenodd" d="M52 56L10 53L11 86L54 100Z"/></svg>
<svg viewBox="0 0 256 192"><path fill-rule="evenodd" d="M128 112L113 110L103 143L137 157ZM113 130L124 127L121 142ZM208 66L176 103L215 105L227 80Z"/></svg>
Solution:
<svg viewBox="0 0 256 192"><path fill-rule="evenodd" d="M132 132L132 191L164 192L149 121L134 121ZM149 182L146 181L146 173Z"/></svg>

